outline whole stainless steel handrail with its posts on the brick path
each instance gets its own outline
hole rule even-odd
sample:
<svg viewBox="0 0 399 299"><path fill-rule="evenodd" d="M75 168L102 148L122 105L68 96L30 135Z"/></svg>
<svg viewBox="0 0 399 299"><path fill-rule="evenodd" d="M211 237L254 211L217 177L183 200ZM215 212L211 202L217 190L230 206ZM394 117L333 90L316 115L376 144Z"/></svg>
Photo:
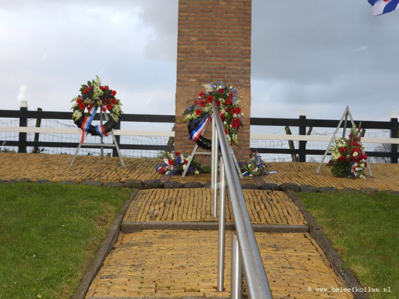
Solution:
<svg viewBox="0 0 399 299"><path fill-rule="evenodd" d="M212 103L212 109L217 112L216 104ZM215 126L216 130L213 129ZM218 144L220 145L221 159L220 159L220 188L217 184L217 164L218 164ZM224 282L224 223L225 223L225 186L230 195L231 206L234 214L235 230L238 238L239 254L235 255L235 263L237 259L241 259L242 269L246 279L247 292L250 299L271 299L271 292L269 283L266 278L265 269L260 256L259 247L253 233L251 220L249 219L248 210L245 205L244 195L242 193L241 185L238 180L235 164L224 134L223 124L218 113L212 115L212 187L213 187L213 211L214 216L217 216L217 203L215 202L217 196L217 189L219 189L219 240L218 240L218 278L217 289L223 290ZM234 246L234 244L232 244ZM236 247L236 246L235 246ZM233 247L232 247L233 249ZM238 256L238 257L237 257ZM237 267L235 267L237 268ZM239 265L238 265L239 268ZM242 279L239 279L239 270L232 269L232 276L234 281L234 293L239 293ZM238 291L237 291L238 289ZM233 292L231 296L234 295ZM232 297L233 298L233 297ZM239 298L239 297L234 297Z"/></svg>

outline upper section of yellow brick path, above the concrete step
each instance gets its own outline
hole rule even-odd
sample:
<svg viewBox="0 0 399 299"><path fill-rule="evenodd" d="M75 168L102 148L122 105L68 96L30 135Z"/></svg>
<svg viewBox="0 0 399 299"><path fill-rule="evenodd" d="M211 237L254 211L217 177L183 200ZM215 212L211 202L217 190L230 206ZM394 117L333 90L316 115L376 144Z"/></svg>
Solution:
<svg viewBox="0 0 399 299"><path fill-rule="evenodd" d="M306 224L288 195L281 191L243 190L252 223ZM213 191L196 189L140 190L123 221L217 221L211 218ZM227 196L228 199L228 196ZM226 200L226 221L233 221L230 200Z"/></svg>

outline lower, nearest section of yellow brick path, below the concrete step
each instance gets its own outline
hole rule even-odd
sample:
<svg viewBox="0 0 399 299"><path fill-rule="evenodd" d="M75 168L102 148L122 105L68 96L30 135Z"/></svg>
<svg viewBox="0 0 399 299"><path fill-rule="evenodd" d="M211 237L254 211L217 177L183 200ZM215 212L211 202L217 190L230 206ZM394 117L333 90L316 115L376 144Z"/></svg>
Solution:
<svg viewBox="0 0 399 299"><path fill-rule="evenodd" d="M308 233L255 233L273 298L353 298ZM120 234L90 297L229 298L231 232L226 231L225 292L216 291L217 231L147 230ZM312 291L308 291L311 288ZM316 292L327 288L330 292Z"/></svg>

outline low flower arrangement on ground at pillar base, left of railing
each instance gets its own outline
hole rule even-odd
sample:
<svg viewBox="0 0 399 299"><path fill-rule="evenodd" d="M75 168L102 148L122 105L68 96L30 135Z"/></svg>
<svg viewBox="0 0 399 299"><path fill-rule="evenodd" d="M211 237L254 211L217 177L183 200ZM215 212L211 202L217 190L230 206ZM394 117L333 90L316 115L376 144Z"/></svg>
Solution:
<svg viewBox="0 0 399 299"><path fill-rule="evenodd" d="M161 153L160 157L164 159L164 162L158 164L155 167L155 170L166 175L182 175L190 159L189 155L184 155L179 151L175 151L174 153L164 151ZM187 174L199 174L200 172L209 172L209 169L201 166L201 164L193 157L189 169L187 170Z"/></svg>

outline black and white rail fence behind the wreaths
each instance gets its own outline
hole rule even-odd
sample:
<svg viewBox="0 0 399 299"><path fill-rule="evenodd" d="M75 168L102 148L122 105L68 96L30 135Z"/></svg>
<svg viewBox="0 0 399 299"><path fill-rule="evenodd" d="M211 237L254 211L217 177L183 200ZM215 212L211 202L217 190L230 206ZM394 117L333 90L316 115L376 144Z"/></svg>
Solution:
<svg viewBox="0 0 399 299"><path fill-rule="evenodd" d="M57 148L61 150L56 153L71 153L77 148L79 135L82 134L71 119L72 112L29 111L27 107L21 107L20 110L0 110L0 148L17 149L18 152L27 152L28 148L31 148L33 152L38 152L40 149ZM95 120L99 120L99 118L95 118ZM49 122L50 125L46 125L46 122ZM362 128L369 133L362 139L363 144L368 145L366 147L367 154L370 157L375 157L378 161L398 163L398 115L393 112L390 121L387 122L355 121L356 124L360 122L362 122ZM164 123L169 125L169 130L121 130L121 124L123 128L129 128L136 127L136 124L139 127L138 123ZM173 115L124 114L114 133L124 155L155 156L163 150L173 150L174 132L171 129L174 123L175 116ZM254 151L268 154L267 156L279 157L265 160L287 161L291 160L293 156L296 156L296 159L301 162L306 161L307 156L308 160L314 160L315 156L321 157L324 154L332 138L332 132L338 124L339 120L307 119L305 115L296 119L251 118L250 147ZM266 128L270 131L270 128L273 127L280 127L280 131L283 130L281 128L287 126L291 130L298 128L298 135L278 134L280 132L277 134L255 134L252 133L255 131L253 130L254 126L258 129L257 131L261 132L266 131ZM307 135L307 129L310 127L313 128L313 132ZM259 128L261 129L259 130ZM320 128L330 132L319 133ZM379 133L373 134L372 132ZM34 137L32 138L32 136ZM43 138L45 136L47 138ZM289 141L292 141L291 147L288 147ZM314 146L316 143L317 147ZM85 148L84 144L82 148ZM95 150L93 147L90 149ZM111 147L108 149L108 154L117 155L116 150L112 150ZM129 152L136 153L132 155ZM85 154L84 151L82 153ZM283 155L285 158L281 158ZM264 158L263 155L262 158Z"/></svg>

